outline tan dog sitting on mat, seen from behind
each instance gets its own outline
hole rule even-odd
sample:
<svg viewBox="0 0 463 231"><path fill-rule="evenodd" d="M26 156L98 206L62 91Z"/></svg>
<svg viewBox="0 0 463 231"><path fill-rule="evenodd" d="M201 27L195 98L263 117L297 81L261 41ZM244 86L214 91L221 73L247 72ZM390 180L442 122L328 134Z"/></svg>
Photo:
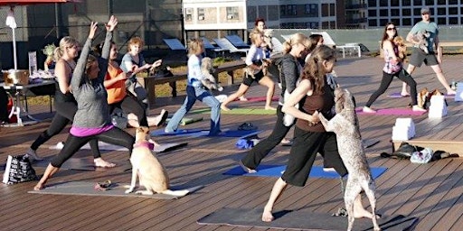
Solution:
<svg viewBox="0 0 463 231"><path fill-rule="evenodd" d="M148 142L149 129L145 126L138 127L135 135L134 149L130 156L132 163L132 180L130 188L126 193L133 192L137 185L137 176L140 185L146 190L138 190L137 194L153 195L154 193L163 193L173 196L182 197L188 190L170 190L169 176L165 167L159 162L152 150L152 143Z"/></svg>

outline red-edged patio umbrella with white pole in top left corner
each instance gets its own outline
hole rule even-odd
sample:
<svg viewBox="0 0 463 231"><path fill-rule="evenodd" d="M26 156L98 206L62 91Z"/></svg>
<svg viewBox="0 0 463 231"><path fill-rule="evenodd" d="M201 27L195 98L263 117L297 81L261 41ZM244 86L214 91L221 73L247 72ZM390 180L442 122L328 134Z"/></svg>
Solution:
<svg viewBox="0 0 463 231"><path fill-rule="evenodd" d="M13 30L13 58L14 58L14 69L18 69L17 56L16 56L16 36L14 29L17 25L14 20L14 5L35 5L35 4L56 4L56 3L80 3L81 0L16 0L16 1L0 1L0 6L9 5L11 7L10 12L6 16L5 24Z"/></svg>

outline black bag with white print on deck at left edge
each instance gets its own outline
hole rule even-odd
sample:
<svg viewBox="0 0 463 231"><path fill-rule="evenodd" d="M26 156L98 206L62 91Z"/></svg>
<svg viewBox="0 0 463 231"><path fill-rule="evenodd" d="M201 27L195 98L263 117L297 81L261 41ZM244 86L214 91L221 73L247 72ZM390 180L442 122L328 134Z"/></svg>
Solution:
<svg viewBox="0 0 463 231"><path fill-rule="evenodd" d="M31 180L39 180L39 178L35 174L29 158L26 155L8 155L3 182L15 184Z"/></svg>

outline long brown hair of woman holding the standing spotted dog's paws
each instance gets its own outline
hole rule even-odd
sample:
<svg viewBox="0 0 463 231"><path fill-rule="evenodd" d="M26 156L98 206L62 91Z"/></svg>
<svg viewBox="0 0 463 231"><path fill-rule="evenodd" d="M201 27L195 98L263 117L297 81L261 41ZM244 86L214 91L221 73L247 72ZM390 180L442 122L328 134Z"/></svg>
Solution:
<svg viewBox="0 0 463 231"><path fill-rule="evenodd" d="M325 69L323 66L323 61L330 61L336 59L336 51L326 45L317 46L317 48L312 51L310 58L307 60L306 65L304 65L304 70L302 71L302 78L308 79L314 86L314 92L323 93L325 88Z"/></svg>

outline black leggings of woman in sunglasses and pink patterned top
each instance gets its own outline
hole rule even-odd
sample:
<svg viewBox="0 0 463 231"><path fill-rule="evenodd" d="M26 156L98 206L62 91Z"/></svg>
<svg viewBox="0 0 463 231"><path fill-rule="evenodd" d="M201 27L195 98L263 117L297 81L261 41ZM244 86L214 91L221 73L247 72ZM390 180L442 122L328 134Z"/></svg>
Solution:
<svg viewBox="0 0 463 231"><path fill-rule="evenodd" d="M410 86L410 97L411 97L411 105L415 106L417 105L416 101L416 82L413 78L411 78L411 75L405 70L401 69L399 72L394 73L394 74L388 74L383 71L383 79L381 80L381 85L380 88L378 88L373 95L368 99L368 102L366 102L365 106L372 106L374 100L376 100L378 97L383 95L383 93L386 91L387 88L389 88L389 85L391 85L392 79L394 77L397 77L398 79L401 79L402 82L407 83L408 86Z"/></svg>

